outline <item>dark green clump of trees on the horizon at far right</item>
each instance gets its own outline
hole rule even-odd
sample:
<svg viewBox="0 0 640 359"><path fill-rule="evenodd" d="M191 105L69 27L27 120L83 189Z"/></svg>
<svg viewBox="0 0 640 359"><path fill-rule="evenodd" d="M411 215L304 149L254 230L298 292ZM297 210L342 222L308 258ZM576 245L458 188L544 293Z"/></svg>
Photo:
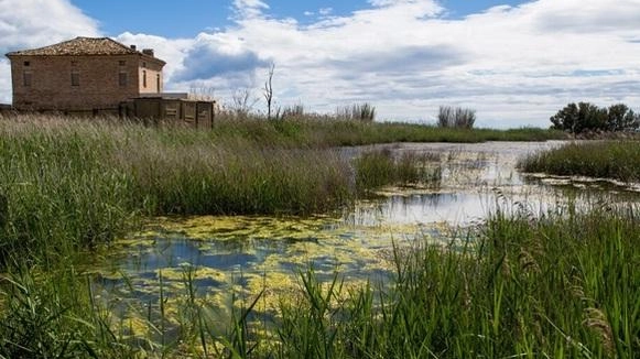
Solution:
<svg viewBox="0 0 640 359"><path fill-rule="evenodd" d="M589 102L568 104L551 117L551 128L571 133L638 129L640 116L625 104L599 108Z"/></svg>

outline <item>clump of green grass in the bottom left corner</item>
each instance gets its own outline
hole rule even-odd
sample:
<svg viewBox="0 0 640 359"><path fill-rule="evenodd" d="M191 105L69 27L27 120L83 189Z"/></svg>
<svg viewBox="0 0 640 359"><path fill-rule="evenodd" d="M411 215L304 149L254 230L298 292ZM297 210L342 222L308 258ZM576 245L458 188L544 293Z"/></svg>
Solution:
<svg viewBox="0 0 640 359"><path fill-rule="evenodd" d="M110 314L74 266L13 266L0 278L0 358L130 358Z"/></svg>

